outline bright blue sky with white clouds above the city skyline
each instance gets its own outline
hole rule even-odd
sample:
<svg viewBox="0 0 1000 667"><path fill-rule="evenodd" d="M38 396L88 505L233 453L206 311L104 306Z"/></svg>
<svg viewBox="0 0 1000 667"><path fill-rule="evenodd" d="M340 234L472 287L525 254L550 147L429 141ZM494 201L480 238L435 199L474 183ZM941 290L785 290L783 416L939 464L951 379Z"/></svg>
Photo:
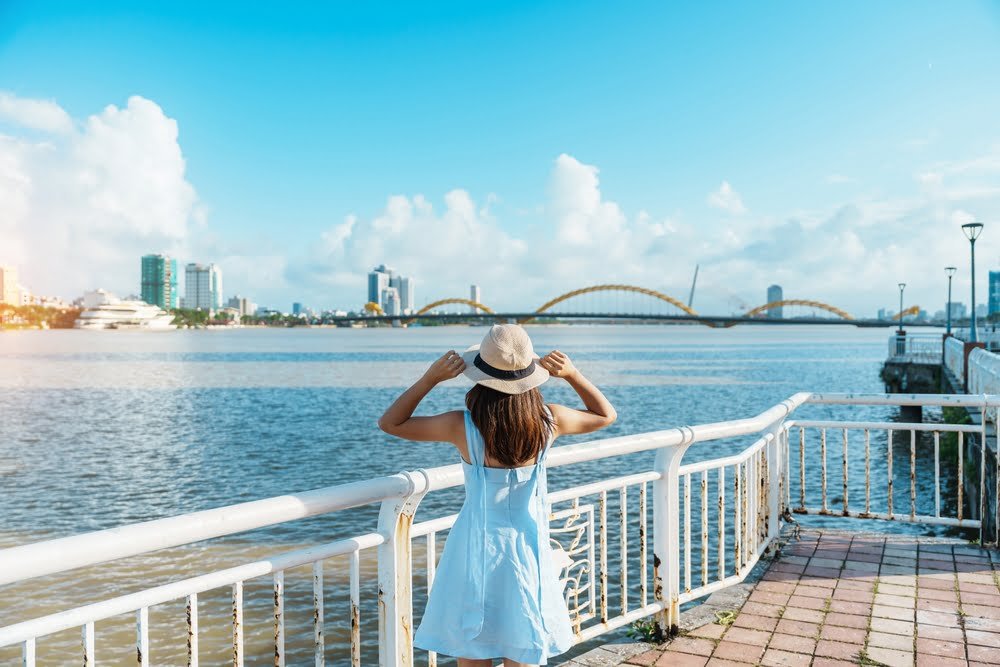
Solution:
<svg viewBox="0 0 1000 667"><path fill-rule="evenodd" d="M936 310L958 225L1000 223L997 3L139 6L0 6L0 262L37 292L135 291L148 249L283 308L357 307L377 260L420 302L681 294L700 262L706 311L900 279ZM979 247L1000 267L1000 225Z"/></svg>

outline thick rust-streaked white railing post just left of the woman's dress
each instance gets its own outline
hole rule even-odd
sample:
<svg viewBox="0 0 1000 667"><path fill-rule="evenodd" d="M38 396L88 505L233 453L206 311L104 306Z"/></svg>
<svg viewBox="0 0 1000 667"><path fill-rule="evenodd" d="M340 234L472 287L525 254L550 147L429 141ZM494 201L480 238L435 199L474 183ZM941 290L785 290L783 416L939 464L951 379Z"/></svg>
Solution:
<svg viewBox="0 0 1000 667"><path fill-rule="evenodd" d="M413 559L410 528L417 505L427 493L423 470L401 473L410 482L402 498L382 501L378 532L378 657L381 667L413 665Z"/></svg>

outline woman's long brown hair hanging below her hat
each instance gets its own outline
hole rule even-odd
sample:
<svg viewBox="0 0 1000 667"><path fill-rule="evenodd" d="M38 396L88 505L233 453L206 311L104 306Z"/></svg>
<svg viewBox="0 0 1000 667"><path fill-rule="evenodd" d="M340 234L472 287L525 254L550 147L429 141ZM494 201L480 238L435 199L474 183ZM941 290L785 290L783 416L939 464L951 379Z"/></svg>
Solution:
<svg viewBox="0 0 1000 667"><path fill-rule="evenodd" d="M505 394L477 384L465 405L486 442L486 457L504 466L530 464L549 441L552 417L538 389Z"/></svg>

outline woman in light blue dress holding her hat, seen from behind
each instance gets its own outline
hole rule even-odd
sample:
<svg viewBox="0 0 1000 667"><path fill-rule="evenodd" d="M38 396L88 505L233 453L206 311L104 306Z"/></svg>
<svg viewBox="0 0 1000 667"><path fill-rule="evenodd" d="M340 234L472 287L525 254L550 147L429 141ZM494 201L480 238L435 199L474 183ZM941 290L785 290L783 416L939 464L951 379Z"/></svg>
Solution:
<svg viewBox="0 0 1000 667"><path fill-rule="evenodd" d="M466 410L413 411L431 389L465 373ZM585 410L545 405L538 386L562 378ZM615 409L565 354L538 359L527 332L493 326L481 345L448 352L396 399L379 427L407 440L450 442L462 457L465 502L448 535L414 645L459 667L545 665L573 644L548 538L543 465L560 435L590 433Z"/></svg>

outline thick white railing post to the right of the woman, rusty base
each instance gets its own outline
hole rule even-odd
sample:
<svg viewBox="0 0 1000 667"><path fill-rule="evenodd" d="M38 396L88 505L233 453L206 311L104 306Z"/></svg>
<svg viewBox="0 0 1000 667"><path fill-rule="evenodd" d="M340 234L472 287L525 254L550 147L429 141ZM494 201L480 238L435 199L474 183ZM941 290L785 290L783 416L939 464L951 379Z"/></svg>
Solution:
<svg viewBox="0 0 1000 667"><path fill-rule="evenodd" d="M694 433L684 427L684 440L656 452L653 469L660 478L653 483L653 597L664 605L657 623L664 635L677 632L680 617L680 477L678 470L684 452L691 446ZM686 549L691 545L684 545Z"/></svg>

